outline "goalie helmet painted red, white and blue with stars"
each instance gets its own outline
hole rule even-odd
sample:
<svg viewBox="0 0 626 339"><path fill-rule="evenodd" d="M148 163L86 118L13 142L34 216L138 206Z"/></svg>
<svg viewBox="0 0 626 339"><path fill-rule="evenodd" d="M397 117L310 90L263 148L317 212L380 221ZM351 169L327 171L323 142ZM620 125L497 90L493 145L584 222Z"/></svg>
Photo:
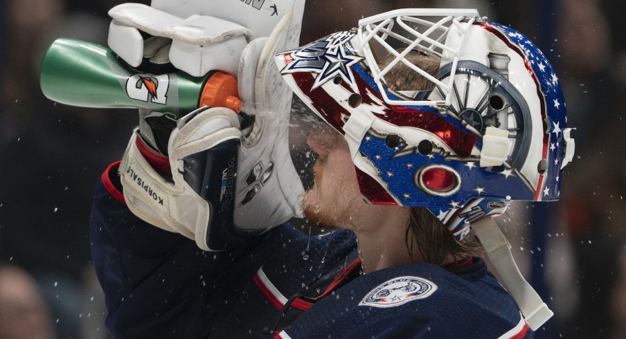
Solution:
<svg viewBox="0 0 626 339"><path fill-rule="evenodd" d="M440 57L436 77L405 58L415 50ZM433 89L393 91L385 75L400 62ZM428 208L461 239L511 201L559 199L574 141L557 75L527 37L476 10L393 10L276 63L347 140L371 203Z"/></svg>

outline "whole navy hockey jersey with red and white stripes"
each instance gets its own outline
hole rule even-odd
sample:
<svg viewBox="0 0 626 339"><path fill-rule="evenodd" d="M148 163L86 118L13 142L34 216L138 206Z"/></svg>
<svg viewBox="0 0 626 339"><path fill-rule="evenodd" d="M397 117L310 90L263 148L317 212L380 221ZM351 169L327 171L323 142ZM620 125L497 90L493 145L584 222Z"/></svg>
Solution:
<svg viewBox="0 0 626 339"><path fill-rule="evenodd" d="M482 259L362 274L355 235L278 226L209 253L138 219L102 175L91 250L114 338L529 338Z"/></svg>

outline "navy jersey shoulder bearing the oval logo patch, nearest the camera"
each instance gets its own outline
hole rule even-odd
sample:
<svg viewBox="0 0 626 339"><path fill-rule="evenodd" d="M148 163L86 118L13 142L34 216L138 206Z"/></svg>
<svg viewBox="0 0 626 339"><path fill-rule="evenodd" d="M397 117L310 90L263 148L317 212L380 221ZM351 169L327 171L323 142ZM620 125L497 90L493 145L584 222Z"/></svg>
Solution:
<svg viewBox="0 0 626 339"><path fill-rule="evenodd" d="M413 263L361 275L317 302L287 331L320 338L339 333L350 338L523 338L525 325L515 302L479 259L462 273Z"/></svg>

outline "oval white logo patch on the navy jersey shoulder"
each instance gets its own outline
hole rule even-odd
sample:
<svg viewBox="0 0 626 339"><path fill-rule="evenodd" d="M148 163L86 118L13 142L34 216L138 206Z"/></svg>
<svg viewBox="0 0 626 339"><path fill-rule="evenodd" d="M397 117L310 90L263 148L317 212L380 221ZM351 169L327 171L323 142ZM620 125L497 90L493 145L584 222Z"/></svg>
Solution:
<svg viewBox="0 0 626 339"><path fill-rule="evenodd" d="M421 277L396 277L374 288L359 306L395 307L424 299L437 291L437 285Z"/></svg>

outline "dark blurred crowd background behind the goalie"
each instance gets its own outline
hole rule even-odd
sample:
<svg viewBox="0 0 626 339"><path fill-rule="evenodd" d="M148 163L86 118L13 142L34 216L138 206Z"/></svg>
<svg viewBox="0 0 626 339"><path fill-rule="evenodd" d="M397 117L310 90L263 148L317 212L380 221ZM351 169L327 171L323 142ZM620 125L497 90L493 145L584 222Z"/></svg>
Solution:
<svg viewBox="0 0 626 339"><path fill-rule="evenodd" d="M107 10L122 2L0 2L0 339L108 338L91 268L89 211L93 186L120 158L136 111L55 104L42 95L38 70L57 37L106 44ZM533 39L553 62L569 126L578 127L562 199L518 204L499 218L524 275L555 311L537 338L626 338L620 6L618 0L307 0L303 43L395 8L479 8Z"/></svg>

